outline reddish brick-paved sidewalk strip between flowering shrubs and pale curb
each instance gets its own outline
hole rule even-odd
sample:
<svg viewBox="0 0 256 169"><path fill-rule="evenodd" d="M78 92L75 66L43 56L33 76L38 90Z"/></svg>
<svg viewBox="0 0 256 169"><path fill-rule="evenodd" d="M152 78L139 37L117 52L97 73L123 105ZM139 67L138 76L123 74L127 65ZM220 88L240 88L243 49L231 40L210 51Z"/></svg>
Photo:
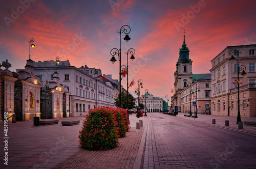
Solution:
<svg viewBox="0 0 256 169"><path fill-rule="evenodd" d="M136 122L143 121L143 127L136 129ZM131 129L119 138L119 146L107 151L80 149L77 153L54 168L133 168L147 118L130 115ZM139 167L139 166L138 166Z"/></svg>

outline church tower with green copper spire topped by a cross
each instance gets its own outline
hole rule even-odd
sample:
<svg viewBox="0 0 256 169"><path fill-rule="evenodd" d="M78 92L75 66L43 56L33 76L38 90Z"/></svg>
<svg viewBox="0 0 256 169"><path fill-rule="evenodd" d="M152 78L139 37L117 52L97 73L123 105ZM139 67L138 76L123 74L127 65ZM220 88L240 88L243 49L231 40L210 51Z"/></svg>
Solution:
<svg viewBox="0 0 256 169"><path fill-rule="evenodd" d="M180 48L179 59L178 59L178 62L176 63L176 71L174 73L174 76L175 76L174 98L175 98L176 112L180 112L180 110L181 110L180 93L183 89L186 88L188 81L190 83L192 82L192 75L193 75L193 73L192 73L192 62L193 61L191 61L191 59L189 59L189 50L185 43L185 30L184 30L183 34L184 34L183 44L182 44L182 47Z"/></svg>

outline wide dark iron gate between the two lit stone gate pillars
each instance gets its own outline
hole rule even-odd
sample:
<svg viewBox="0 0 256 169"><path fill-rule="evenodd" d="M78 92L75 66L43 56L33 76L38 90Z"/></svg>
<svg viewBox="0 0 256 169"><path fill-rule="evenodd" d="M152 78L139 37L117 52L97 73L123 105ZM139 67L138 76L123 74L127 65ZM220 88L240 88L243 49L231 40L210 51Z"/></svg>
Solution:
<svg viewBox="0 0 256 169"><path fill-rule="evenodd" d="M41 119L52 119L52 92L47 87L40 91L40 112Z"/></svg>

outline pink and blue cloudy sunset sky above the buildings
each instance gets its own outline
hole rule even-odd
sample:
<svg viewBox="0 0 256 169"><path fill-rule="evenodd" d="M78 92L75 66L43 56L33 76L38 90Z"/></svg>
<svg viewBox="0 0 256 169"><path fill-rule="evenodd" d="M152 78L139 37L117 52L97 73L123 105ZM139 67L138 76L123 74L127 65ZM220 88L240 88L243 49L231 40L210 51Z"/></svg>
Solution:
<svg viewBox="0 0 256 169"><path fill-rule="evenodd" d="M11 71L24 68L28 41L34 38L31 59L35 62L55 60L58 55L72 66L100 68L119 79L119 63L109 61L110 50L119 48L116 31L127 24L131 41L121 42L123 65L124 52L136 50L136 59L129 61L129 81L142 79L143 89L165 99L174 88L183 30L193 73L209 73L210 60L226 46L256 43L255 6L255 1L240 0L2 0L0 62L8 59ZM122 85L126 86L126 78ZM135 87L129 89L133 95Z"/></svg>

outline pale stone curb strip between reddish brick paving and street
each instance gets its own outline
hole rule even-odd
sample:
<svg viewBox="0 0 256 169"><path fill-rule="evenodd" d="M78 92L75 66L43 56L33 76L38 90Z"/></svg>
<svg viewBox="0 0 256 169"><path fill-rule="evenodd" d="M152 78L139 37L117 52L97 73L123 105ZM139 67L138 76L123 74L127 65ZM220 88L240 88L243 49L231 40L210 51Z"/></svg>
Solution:
<svg viewBox="0 0 256 169"><path fill-rule="evenodd" d="M149 117L149 116L148 116ZM143 167L143 159L144 159L144 153L145 153L145 146L146 146L146 133L148 128L148 118L146 120L146 125L141 137L141 142L139 145L139 150L136 155L136 159L133 164L133 169L140 169Z"/></svg>

